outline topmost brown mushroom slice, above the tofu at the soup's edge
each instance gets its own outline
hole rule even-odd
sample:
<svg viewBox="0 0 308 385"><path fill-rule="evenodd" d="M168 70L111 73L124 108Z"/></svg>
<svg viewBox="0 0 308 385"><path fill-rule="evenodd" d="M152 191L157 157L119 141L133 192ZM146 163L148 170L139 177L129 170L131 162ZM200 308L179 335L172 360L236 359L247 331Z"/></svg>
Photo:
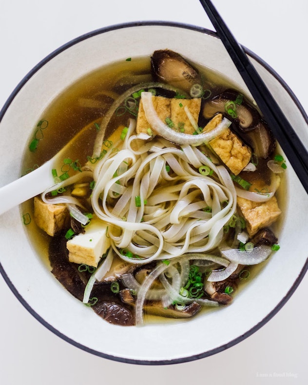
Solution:
<svg viewBox="0 0 308 385"><path fill-rule="evenodd" d="M170 50L154 51L151 70L154 81L173 85L188 93L194 83L200 82L198 71L181 55Z"/></svg>

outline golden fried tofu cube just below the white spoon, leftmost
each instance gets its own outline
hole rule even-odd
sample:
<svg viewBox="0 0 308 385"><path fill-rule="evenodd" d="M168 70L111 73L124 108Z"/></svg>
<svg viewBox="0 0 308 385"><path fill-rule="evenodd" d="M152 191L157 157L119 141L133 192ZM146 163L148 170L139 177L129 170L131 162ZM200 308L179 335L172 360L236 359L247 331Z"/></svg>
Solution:
<svg viewBox="0 0 308 385"><path fill-rule="evenodd" d="M39 197L34 198L34 220L40 229L54 236L68 226L70 214L64 204L48 204Z"/></svg>

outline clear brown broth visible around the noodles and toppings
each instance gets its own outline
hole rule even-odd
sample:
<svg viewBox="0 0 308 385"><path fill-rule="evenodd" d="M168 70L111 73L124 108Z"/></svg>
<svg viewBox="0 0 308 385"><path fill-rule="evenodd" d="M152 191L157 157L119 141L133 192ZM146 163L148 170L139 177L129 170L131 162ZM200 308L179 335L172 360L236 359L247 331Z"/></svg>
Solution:
<svg viewBox="0 0 308 385"><path fill-rule="evenodd" d="M213 94L218 94L226 88L235 88L220 74L212 70L198 66L205 79L212 85L215 83ZM125 84L126 80L134 76L147 76L150 72L150 58L133 58L132 61L118 62L108 67L103 67L95 72L79 79L75 84L71 85L63 93L61 93L52 103L46 108L39 120L48 121L48 126L39 132L43 135L39 136L39 144L36 152L30 152L28 146L23 156L23 165L25 172L31 169L34 165L41 165L46 160L50 159L56 154L67 142L69 142L74 135L85 126L88 126L87 134L83 136L82 140L71 146L68 149L67 157L72 159L79 159L83 165L86 162L87 156L92 156L93 145L96 137L96 123L99 124L102 116L108 111L108 108L113 102L110 97L102 96L102 91L107 95L122 94L126 89L132 86L131 82ZM81 107L80 99L83 103L91 103L95 105L94 108ZM100 105L100 108L97 108ZM116 119L115 128L118 124L126 124L128 115ZM33 140L38 130L37 124L33 130L33 134L29 138L29 143ZM109 131L110 132L110 131ZM285 185L280 189L279 204L284 207ZM22 211L29 212L33 215L32 201L25 202L22 206ZM281 227L283 217L275 224L275 231ZM41 231L34 221L27 226L27 233L30 242L34 245L38 255L42 258L44 263L49 266L48 261L48 242L49 236ZM263 267L252 267L250 269L251 278L257 275L257 272ZM239 289L242 288L239 285ZM207 309L205 311L215 311L215 309ZM153 320L160 320L160 317L147 316L150 322ZM173 322L173 321L171 321ZM182 321L181 321L182 322ZM183 320L183 322L186 322Z"/></svg>

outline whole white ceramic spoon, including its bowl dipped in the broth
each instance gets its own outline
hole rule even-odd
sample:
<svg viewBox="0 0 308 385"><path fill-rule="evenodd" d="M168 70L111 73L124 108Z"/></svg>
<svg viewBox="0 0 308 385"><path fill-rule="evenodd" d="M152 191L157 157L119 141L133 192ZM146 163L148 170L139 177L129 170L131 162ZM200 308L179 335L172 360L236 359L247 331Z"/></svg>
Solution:
<svg viewBox="0 0 308 385"><path fill-rule="evenodd" d="M82 128L55 156L19 179L0 188L0 215L20 203L43 193L55 184L52 170L69 157L70 149L84 140L94 142L96 129L93 123ZM90 147L93 148L93 147Z"/></svg>

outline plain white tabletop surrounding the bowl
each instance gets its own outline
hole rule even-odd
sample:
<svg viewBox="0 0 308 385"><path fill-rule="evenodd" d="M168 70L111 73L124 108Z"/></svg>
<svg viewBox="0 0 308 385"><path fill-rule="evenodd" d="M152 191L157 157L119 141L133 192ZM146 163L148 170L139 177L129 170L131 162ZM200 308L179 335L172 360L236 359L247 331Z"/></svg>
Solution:
<svg viewBox="0 0 308 385"><path fill-rule="evenodd" d="M308 111L308 1L213 2L236 39L267 61ZM198 0L0 0L0 107L19 81L60 45L136 20L213 29ZM291 263L296 255L289 257ZM307 291L306 275L264 327L221 353L184 364L138 366L64 342L22 307L0 276L0 384L307 384ZM232 327L228 320L226 327Z"/></svg>

